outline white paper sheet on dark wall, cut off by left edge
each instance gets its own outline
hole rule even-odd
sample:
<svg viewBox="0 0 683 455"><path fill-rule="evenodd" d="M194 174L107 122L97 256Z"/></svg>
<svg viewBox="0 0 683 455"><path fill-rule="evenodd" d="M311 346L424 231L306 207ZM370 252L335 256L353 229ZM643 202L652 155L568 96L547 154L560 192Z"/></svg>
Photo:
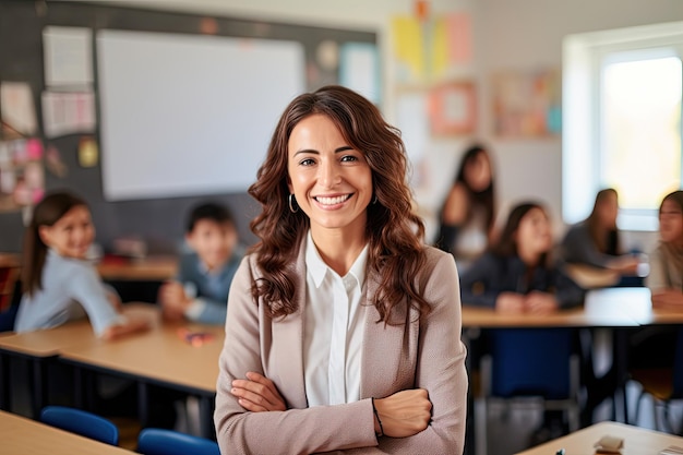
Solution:
<svg viewBox="0 0 683 455"><path fill-rule="evenodd" d="M31 85L26 82L1 83L0 107L2 121L12 130L23 135L36 134L36 110Z"/></svg>

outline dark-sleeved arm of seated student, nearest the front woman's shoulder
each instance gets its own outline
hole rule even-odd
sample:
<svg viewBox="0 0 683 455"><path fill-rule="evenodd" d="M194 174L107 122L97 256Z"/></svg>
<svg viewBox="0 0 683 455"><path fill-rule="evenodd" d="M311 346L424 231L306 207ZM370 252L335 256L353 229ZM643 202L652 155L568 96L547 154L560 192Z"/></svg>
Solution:
<svg viewBox="0 0 683 455"><path fill-rule="evenodd" d="M495 258L484 253L460 275L463 304L495 308L500 291L492 286L499 267Z"/></svg>

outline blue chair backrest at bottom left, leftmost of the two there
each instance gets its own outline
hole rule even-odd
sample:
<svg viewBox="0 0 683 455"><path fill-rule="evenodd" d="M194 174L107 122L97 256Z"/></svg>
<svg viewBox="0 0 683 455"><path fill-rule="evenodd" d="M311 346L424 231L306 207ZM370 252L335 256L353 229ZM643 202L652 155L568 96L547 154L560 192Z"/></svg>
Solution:
<svg viewBox="0 0 683 455"><path fill-rule="evenodd" d="M119 429L110 420L95 414L65 406L46 406L40 421L106 444L119 444Z"/></svg>

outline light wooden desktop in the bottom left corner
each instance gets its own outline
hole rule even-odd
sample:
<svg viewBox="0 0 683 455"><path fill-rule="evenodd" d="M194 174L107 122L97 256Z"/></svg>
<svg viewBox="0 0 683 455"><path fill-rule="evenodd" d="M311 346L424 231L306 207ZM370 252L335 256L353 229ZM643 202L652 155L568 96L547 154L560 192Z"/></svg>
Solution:
<svg viewBox="0 0 683 455"><path fill-rule="evenodd" d="M124 448L69 433L14 414L0 411L3 455L125 455Z"/></svg>

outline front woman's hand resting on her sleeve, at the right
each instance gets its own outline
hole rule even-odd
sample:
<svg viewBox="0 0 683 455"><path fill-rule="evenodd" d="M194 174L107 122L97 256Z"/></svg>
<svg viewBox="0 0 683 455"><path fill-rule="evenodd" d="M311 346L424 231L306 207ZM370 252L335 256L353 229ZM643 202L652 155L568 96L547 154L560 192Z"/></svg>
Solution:
<svg viewBox="0 0 683 455"><path fill-rule="evenodd" d="M407 438L424 430L432 418L432 403L424 388L400 391L386 398L375 398L374 407L384 434Z"/></svg>

